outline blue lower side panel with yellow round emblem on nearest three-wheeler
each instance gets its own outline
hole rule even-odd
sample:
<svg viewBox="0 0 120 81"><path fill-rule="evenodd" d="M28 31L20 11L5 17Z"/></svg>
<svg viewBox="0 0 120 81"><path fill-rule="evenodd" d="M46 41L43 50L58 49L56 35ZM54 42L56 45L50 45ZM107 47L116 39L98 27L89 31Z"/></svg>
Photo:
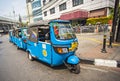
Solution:
<svg viewBox="0 0 120 81"><path fill-rule="evenodd" d="M27 40L27 51L29 51L33 57L51 64L51 45L49 43L40 41L35 43Z"/></svg>

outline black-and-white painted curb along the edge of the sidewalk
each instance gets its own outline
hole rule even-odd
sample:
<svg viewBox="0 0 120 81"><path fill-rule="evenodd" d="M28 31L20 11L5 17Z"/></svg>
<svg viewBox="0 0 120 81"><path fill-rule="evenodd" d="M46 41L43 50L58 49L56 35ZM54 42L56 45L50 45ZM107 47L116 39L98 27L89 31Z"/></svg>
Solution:
<svg viewBox="0 0 120 81"><path fill-rule="evenodd" d="M81 63L91 64L95 66L119 67L120 61L105 59L80 59Z"/></svg>

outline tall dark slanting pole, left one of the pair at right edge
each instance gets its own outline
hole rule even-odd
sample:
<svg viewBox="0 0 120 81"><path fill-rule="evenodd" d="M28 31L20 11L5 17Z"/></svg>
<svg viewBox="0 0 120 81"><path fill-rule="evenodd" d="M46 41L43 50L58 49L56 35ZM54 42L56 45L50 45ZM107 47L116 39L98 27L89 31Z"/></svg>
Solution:
<svg viewBox="0 0 120 81"><path fill-rule="evenodd" d="M111 36L110 36L109 47L112 47L112 42L114 42L115 40L115 32L116 32L116 25L117 25L117 18L118 18L118 7L119 7L119 0L115 0L112 32L110 32Z"/></svg>

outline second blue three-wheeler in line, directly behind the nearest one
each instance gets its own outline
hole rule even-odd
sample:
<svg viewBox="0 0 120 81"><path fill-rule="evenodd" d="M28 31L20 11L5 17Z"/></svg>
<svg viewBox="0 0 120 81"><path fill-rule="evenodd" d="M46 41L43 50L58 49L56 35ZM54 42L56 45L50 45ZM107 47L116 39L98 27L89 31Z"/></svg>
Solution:
<svg viewBox="0 0 120 81"><path fill-rule="evenodd" d="M26 43L26 39L27 39L27 28L26 27L22 27L22 28L18 28L15 30L15 44L17 45L18 49L27 49L27 43Z"/></svg>

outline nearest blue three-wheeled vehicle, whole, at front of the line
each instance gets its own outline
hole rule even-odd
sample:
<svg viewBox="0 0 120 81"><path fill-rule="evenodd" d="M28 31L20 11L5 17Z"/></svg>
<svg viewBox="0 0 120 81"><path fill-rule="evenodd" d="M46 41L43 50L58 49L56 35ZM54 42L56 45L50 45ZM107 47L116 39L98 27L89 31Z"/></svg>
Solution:
<svg viewBox="0 0 120 81"><path fill-rule="evenodd" d="M78 40L69 21L40 21L29 25L27 51L28 58L37 58L51 66L65 64L78 74L80 59L75 55Z"/></svg>

